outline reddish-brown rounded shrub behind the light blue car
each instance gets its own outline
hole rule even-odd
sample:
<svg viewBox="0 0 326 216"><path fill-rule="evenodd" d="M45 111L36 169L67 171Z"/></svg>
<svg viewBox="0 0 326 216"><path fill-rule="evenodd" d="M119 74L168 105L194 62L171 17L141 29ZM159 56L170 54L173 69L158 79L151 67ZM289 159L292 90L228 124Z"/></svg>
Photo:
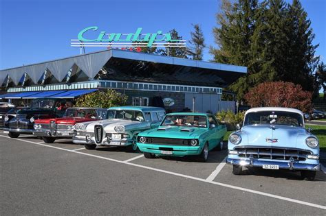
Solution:
<svg viewBox="0 0 326 216"><path fill-rule="evenodd" d="M292 82L263 82L244 97L251 107L277 106L307 112L312 108L312 93Z"/></svg>

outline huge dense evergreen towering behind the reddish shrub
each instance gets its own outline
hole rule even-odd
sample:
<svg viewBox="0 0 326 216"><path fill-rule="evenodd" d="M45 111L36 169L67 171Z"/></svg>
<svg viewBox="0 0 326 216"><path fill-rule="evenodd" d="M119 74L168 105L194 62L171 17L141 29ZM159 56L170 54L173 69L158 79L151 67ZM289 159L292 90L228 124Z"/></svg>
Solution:
<svg viewBox="0 0 326 216"><path fill-rule="evenodd" d="M249 88L265 81L300 84L306 91L314 89L313 71L318 58L314 34L301 3L283 0L223 1L217 14L219 27L213 29L219 49L210 49L216 62L248 67L230 90L238 99Z"/></svg>

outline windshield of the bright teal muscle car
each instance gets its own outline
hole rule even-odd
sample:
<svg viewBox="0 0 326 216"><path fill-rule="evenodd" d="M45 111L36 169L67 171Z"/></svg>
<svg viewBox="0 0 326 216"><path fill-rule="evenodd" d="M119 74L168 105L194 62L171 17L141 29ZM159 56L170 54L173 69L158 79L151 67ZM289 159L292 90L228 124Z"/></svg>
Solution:
<svg viewBox="0 0 326 216"><path fill-rule="evenodd" d="M166 115L161 125L206 128L207 121L206 116L202 115Z"/></svg>

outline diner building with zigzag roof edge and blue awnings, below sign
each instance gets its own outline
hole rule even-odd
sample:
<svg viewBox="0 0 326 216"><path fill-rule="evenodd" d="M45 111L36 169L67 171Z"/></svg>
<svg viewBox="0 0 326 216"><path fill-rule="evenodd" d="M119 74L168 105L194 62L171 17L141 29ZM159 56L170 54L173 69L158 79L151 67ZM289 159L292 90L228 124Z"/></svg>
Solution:
<svg viewBox="0 0 326 216"><path fill-rule="evenodd" d="M246 72L236 65L108 49L1 70L0 101L28 105L34 98L74 99L111 88L126 94L129 105L215 113L235 110L235 101L221 95Z"/></svg>

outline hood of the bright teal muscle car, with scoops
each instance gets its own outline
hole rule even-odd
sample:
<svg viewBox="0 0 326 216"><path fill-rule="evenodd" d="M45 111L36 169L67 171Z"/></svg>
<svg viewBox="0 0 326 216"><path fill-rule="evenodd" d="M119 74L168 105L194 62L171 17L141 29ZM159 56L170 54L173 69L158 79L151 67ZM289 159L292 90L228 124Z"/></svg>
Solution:
<svg viewBox="0 0 326 216"><path fill-rule="evenodd" d="M162 137L162 138L175 138L175 139L197 139L200 134L207 131L207 128L172 126L160 127L152 130L146 130L138 136L148 137Z"/></svg>

